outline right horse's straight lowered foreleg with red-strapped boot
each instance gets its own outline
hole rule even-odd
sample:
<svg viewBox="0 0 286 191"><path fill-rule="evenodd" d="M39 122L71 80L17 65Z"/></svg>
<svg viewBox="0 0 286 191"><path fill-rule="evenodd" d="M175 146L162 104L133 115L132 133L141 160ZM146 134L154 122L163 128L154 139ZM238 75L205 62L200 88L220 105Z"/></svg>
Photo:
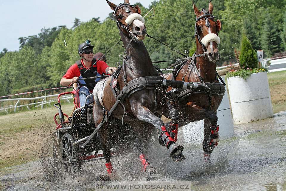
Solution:
<svg viewBox="0 0 286 191"><path fill-rule="evenodd" d="M220 141L218 130L219 125L217 125L217 115L216 112L209 110L206 113L207 118L204 119L204 137L203 137L203 160L205 162L209 161L210 154L215 149Z"/></svg>

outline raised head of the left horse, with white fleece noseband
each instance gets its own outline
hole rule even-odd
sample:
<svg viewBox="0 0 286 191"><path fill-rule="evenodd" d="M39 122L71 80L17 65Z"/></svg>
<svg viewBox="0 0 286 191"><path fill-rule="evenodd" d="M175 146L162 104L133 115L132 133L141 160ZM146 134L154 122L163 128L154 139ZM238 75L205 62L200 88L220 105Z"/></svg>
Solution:
<svg viewBox="0 0 286 191"><path fill-rule="evenodd" d="M138 5L130 5L128 0L124 3L116 4L106 0L113 10L113 15L117 21L117 26L126 36L134 36L136 40L142 41L146 35L144 19L141 16L141 9Z"/></svg>

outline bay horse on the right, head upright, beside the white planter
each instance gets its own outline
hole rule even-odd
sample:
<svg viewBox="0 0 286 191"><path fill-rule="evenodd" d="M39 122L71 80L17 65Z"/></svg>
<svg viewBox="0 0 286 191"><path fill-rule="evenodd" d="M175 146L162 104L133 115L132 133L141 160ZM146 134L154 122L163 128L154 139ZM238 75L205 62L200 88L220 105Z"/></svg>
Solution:
<svg viewBox="0 0 286 191"><path fill-rule="evenodd" d="M183 65L174 68L171 74L164 75L167 79L187 82L199 82L210 88L207 92L181 91L178 97L172 98L172 104L180 113L179 124L204 120L203 151L204 161L209 161L210 154L219 142L217 125L217 108L219 107L225 87L218 81L216 61L220 58L217 44L220 43L218 32L220 20L215 21L212 15L213 5L209 2L208 11L201 11L193 3L196 14L195 37L197 49L194 55L202 56L190 59ZM224 84L225 85L225 84ZM171 87L168 89L171 90Z"/></svg>

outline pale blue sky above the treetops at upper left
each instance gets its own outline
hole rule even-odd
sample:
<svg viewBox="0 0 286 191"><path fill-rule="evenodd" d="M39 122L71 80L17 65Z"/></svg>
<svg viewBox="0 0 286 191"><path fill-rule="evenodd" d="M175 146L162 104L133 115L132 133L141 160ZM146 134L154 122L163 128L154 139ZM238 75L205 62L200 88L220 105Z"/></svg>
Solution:
<svg viewBox="0 0 286 191"><path fill-rule="evenodd" d="M117 5L123 3L123 0L110 1ZM154 0L129 1L149 7ZM111 11L105 0L0 0L0 52L4 48L19 50L19 37L38 35L44 27L71 28L75 18L85 22L100 17L102 21Z"/></svg>

